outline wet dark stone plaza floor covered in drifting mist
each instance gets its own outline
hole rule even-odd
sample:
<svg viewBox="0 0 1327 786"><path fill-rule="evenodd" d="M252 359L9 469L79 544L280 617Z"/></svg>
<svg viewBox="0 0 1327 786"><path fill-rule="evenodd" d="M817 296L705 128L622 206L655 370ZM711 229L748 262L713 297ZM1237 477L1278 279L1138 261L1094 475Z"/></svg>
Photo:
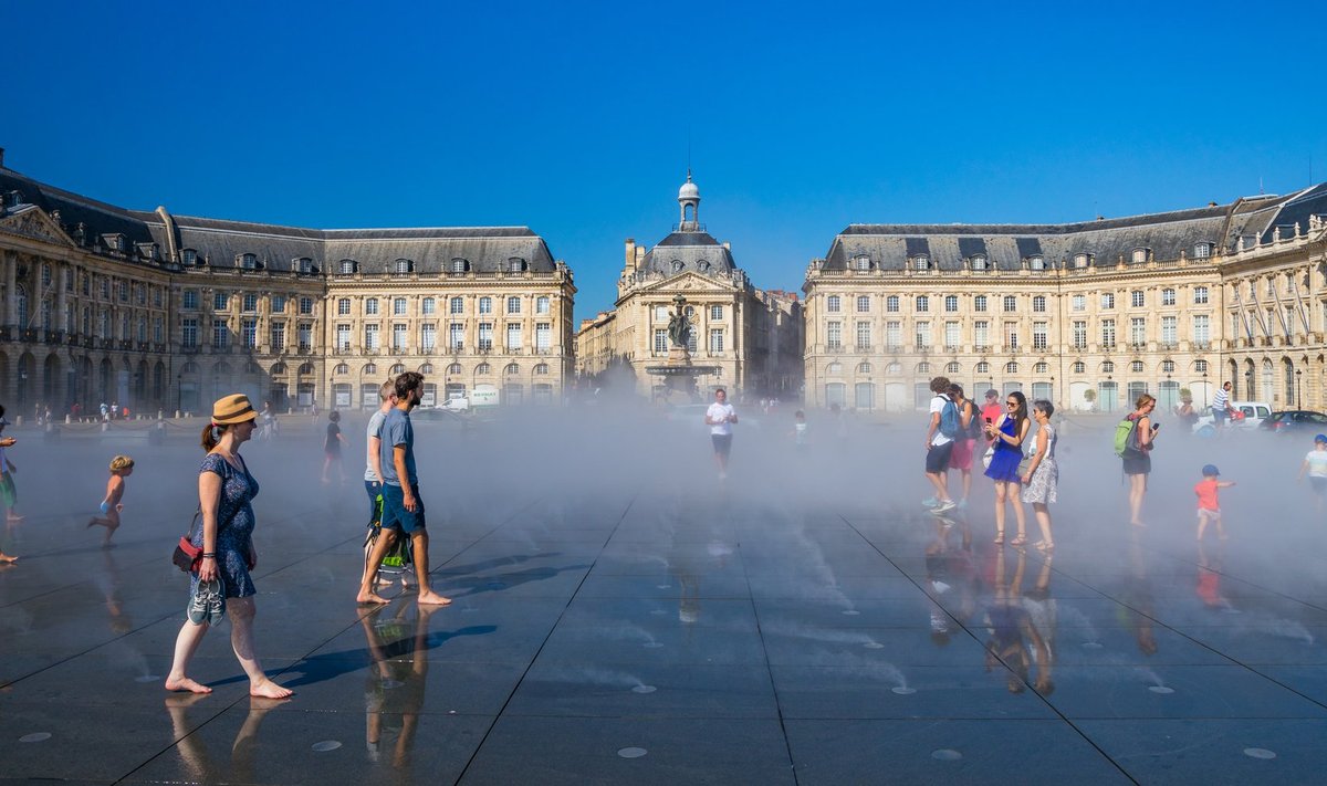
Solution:
<svg viewBox="0 0 1327 786"><path fill-rule="evenodd" d="M1161 443L1127 524L1111 422L1064 424L1058 550L995 546L991 487L918 505L924 422L653 413L421 422L434 588L354 603L364 418L244 446L257 649L230 624L167 693L196 505L191 429L17 429L0 568L0 778L77 783L1310 783L1327 769L1327 528L1298 438ZM916 422L914 422L916 421ZM85 528L130 453L123 526ZM1194 540L1221 465L1229 539ZM334 474L334 471L333 471ZM1036 524L1028 512L1028 534ZM1010 535L1013 535L1013 518Z"/></svg>

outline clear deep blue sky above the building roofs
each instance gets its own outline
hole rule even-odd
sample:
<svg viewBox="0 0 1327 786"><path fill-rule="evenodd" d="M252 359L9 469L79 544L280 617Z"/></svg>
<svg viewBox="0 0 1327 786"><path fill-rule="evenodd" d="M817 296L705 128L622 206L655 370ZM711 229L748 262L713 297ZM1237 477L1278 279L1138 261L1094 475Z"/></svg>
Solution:
<svg viewBox="0 0 1327 786"><path fill-rule="evenodd" d="M1067 222L1327 179L1318 4L0 4L0 146L126 207L527 224L612 305L701 218L798 289L849 223ZM1315 84L1316 82L1316 84Z"/></svg>

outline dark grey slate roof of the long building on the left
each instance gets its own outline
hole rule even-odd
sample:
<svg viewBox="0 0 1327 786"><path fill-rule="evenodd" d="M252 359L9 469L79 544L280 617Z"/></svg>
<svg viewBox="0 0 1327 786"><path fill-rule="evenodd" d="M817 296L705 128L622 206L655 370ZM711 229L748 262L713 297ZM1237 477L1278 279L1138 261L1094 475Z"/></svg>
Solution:
<svg viewBox="0 0 1327 786"><path fill-rule="evenodd" d="M0 191L20 191L25 203L60 211L66 231L82 222L89 243L102 234L126 236L134 243L157 243L165 255L171 244L166 223L155 212L125 210L78 194L62 191L0 167ZM453 259L467 260L467 271L508 270L510 260L523 259L524 270L552 272L556 262L543 238L528 227L415 227L369 230L309 230L212 218L171 216L175 247L196 251L212 267L236 267L243 254L253 254L267 270L288 271L292 260L309 258L313 267L334 275L342 259L353 259L360 272L391 272L397 259L411 260L414 272L438 274Z"/></svg>

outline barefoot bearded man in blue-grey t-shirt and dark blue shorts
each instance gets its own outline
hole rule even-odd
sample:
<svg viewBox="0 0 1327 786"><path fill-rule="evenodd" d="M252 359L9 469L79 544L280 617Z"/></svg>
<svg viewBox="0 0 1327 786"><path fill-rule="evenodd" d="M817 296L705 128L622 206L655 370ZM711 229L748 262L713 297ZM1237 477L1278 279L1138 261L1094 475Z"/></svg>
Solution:
<svg viewBox="0 0 1327 786"><path fill-rule="evenodd" d="M397 404L387 410L380 429L382 451L382 535L373 544L369 564L382 563L384 555L395 538L407 535L414 555L415 576L419 580L419 605L447 605L450 599L429 587L429 531L423 520L423 498L419 497L419 477L414 463L414 426L410 410L423 396L423 376L406 372L395 381ZM360 603L387 603L373 591L370 571L360 583Z"/></svg>

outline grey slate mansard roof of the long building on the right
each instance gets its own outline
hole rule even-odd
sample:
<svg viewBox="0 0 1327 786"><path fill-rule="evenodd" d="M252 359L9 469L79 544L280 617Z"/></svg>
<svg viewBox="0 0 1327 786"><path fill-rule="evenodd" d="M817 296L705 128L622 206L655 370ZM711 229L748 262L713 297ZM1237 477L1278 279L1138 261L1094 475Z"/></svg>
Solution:
<svg viewBox="0 0 1327 786"><path fill-rule="evenodd" d="M1157 212L1067 224L851 224L825 255L823 270L847 270L867 256L873 268L901 271L926 256L934 270L963 270L983 256L991 270L1020 270L1032 256L1046 266L1072 264L1079 254L1091 264L1132 260L1136 248L1154 259L1193 255L1200 243L1233 250L1242 236L1271 238L1277 226L1289 235L1310 215L1327 214L1327 183L1289 198L1250 196L1225 206Z"/></svg>

